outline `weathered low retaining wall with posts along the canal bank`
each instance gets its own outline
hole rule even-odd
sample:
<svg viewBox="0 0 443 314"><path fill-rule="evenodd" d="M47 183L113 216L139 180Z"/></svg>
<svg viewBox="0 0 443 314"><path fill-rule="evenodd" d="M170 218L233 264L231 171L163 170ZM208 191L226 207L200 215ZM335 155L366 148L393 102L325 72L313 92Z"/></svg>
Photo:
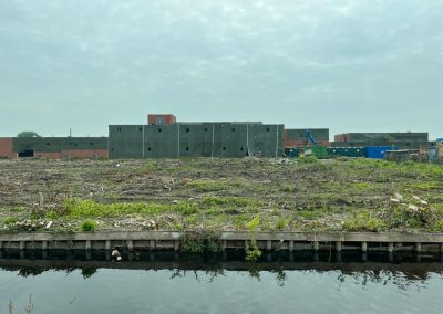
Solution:
<svg viewBox="0 0 443 314"><path fill-rule="evenodd" d="M184 236L181 231L101 231L54 234L50 232L1 233L0 249L105 249L125 247L151 250L179 250ZM222 249L247 249L251 238L264 250L360 250L443 251L443 233L371 233L371 232L220 232Z"/></svg>

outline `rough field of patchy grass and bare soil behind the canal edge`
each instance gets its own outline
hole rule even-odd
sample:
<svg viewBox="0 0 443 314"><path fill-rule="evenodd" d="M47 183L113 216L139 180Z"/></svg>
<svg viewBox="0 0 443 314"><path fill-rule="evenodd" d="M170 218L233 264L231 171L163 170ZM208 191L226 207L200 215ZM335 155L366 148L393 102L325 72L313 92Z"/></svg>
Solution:
<svg viewBox="0 0 443 314"><path fill-rule="evenodd" d="M443 232L443 167L369 159L0 160L0 230Z"/></svg>

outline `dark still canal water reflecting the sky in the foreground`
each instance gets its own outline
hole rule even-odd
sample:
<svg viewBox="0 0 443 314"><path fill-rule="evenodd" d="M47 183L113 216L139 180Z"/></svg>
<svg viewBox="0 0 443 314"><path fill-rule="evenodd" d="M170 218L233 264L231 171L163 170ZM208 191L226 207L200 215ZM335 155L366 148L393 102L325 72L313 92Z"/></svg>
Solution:
<svg viewBox="0 0 443 314"><path fill-rule="evenodd" d="M177 254L0 259L0 313L442 313L430 257Z"/></svg>

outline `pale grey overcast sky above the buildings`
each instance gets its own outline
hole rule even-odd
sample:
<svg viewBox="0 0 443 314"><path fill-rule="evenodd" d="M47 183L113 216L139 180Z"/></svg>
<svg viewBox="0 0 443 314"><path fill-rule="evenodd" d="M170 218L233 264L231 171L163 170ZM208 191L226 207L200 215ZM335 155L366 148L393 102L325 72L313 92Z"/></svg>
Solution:
<svg viewBox="0 0 443 314"><path fill-rule="evenodd" d="M264 121L443 137L441 0L2 0L0 136Z"/></svg>

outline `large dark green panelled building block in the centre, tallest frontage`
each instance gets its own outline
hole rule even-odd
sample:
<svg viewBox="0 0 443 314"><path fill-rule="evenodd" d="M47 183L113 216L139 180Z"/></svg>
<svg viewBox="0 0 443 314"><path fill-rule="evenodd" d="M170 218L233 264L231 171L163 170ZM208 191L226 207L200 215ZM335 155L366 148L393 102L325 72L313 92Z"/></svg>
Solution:
<svg viewBox="0 0 443 314"><path fill-rule="evenodd" d="M284 125L261 123L175 123L110 125L110 158L177 158L284 154Z"/></svg>

